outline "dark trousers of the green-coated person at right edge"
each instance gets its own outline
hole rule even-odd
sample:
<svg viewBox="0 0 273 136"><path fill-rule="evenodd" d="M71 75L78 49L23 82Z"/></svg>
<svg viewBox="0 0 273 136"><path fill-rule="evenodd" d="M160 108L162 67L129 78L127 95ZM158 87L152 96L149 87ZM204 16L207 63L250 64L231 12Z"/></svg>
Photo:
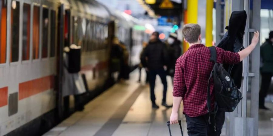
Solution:
<svg viewBox="0 0 273 136"><path fill-rule="evenodd" d="M265 106L265 97L267 96L268 88L271 83L272 73L261 73L262 81L261 81L261 90L259 92L259 106Z"/></svg>

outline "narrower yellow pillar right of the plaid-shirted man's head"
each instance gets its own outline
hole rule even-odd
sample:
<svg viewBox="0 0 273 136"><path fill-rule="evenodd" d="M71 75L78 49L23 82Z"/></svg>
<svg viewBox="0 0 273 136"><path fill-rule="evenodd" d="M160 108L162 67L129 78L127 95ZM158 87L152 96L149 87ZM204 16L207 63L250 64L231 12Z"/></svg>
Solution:
<svg viewBox="0 0 273 136"><path fill-rule="evenodd" d="M206 10L206 46L212 46L212 10L213 10L213 0L207 0L207 10Z"/></svg>

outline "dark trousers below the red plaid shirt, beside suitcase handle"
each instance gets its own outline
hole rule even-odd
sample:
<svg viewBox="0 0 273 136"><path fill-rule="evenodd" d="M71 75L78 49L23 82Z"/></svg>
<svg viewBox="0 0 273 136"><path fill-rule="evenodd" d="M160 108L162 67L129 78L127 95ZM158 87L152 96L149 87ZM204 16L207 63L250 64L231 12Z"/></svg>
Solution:
<svg viewBox="0 0 273 136"><path fill-rule="evenodd" d="M211 124L209 124L209 114L189 117L185 115L187 120L187 130L189 136L220 136L225 121L225 112L218 111L215 115L214 131L214 115L211 114Z"/></svg>

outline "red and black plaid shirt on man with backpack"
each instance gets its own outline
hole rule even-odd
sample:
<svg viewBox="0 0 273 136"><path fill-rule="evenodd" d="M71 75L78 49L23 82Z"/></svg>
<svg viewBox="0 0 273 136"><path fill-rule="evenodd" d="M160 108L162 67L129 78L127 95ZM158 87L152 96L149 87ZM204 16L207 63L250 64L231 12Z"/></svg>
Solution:
<svg viewBox="0 0 273 136"><path fill-rule="evenodd" d="M240 55L216 47L217 63L240 62ZM192 45L176 61L174 74L174 97L183 97L184 114L197 117L208 113L207 82L213 68L211 53L203 44ZM214 107L213 82L211 80L211 107Z"/></svg>

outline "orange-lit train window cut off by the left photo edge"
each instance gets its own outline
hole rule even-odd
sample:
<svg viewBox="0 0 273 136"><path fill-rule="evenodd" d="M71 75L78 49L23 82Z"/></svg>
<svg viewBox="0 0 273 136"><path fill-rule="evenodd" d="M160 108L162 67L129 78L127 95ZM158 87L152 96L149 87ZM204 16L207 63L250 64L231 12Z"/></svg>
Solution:
<svg viewBox="0 0 273 136"><path fill-rule="evenodd" d="M5 1L2 1L1 12L0 63L6 63L7 7Z"/></svg>

